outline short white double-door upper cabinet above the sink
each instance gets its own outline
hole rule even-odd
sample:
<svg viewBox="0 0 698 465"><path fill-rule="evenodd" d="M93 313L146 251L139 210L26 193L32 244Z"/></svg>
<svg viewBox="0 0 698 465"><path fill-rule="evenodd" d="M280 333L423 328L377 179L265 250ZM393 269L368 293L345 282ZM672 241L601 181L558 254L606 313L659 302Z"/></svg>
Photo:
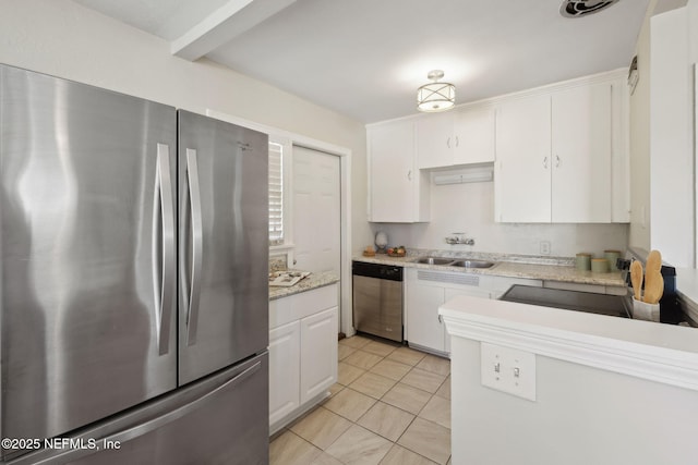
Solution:
<svg viewBox="0 0 698 465"><path fill-rule="evenodd" d="M420 169L494 161L494 109L458 109L417 120Z"/></svg>

